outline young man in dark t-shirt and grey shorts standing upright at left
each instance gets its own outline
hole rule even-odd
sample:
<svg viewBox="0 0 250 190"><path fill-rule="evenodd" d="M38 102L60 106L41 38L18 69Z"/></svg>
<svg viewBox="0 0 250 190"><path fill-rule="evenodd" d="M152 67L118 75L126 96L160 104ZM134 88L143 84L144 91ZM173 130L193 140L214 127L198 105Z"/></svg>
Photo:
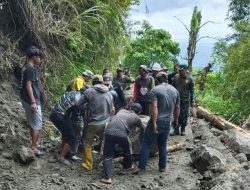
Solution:
<svg viewBox="0 0 250 190"><path fill-rule="evenodd" d="M43 52L35 46L26 51L27 63L22 69L20 96L23 108L26 113L28 127L32 138L31 148L35 155L40 156L44 153L39 145L38 139L42 129L42 112L41 112L41 89L39 86L38 76L35 65L41 63Z"/></svg>

